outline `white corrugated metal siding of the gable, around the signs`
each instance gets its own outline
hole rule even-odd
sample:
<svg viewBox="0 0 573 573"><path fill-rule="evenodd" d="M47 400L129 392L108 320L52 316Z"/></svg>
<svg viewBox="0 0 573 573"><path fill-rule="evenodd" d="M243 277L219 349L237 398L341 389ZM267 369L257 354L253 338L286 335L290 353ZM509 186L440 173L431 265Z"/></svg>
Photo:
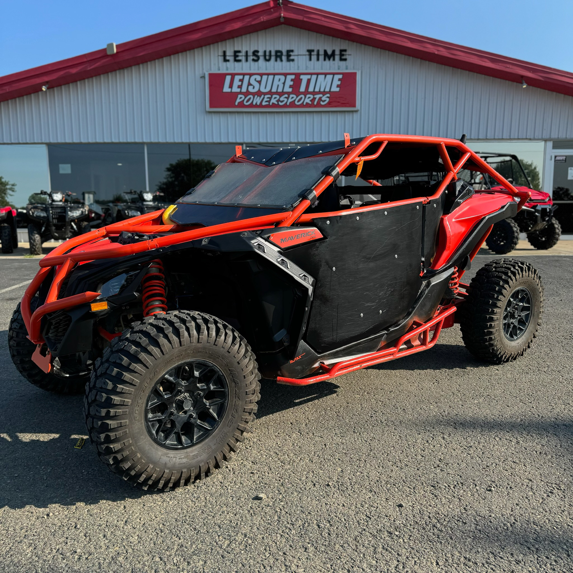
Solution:
<svg viewBox="0 0 573 573"><path fill-rule="evenodd" d="M232 50L348 49L347 62L224 64ZM357 112L206 112L206 71L360 70ZM375 132L573 139L573 97L288 26L0 103L0 143L313 142Z"/></svg>

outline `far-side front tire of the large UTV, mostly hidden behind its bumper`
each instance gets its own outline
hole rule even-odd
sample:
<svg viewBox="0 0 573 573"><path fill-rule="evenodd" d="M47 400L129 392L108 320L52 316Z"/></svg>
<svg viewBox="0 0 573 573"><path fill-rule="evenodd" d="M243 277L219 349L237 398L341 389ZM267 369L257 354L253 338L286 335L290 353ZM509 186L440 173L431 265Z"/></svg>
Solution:
<svg viewBox="0 0 573 573"><path fill-rule="evenodd" d="M81 394L85 391L85 383L88 380L85 374L75 376L46 374L32 362L36 344L28 339L28 331L22 319L19 303L10 320L8 349L18 372L34 386L56 394Z"/></svg>

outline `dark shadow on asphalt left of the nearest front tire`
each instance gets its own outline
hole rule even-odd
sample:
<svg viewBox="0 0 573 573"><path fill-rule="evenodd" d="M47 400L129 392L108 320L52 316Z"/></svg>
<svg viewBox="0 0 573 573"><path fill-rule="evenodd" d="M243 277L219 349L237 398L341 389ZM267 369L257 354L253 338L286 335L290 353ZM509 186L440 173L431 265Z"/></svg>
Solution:
<svg viewBox="0 0 573 573"><path fill-rule="evenodd" d="M89 439L74 449L87 437L82 397L49 394L18 374L4 380L16 391L0 406L0 507L97 504L146 494L109 472Z"/></svg>

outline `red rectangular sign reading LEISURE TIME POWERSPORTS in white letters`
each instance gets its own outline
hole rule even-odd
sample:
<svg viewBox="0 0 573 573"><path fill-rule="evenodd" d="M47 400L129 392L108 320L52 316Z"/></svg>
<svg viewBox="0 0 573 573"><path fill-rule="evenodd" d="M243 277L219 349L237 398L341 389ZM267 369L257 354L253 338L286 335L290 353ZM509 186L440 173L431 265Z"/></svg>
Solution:
<svg viewBox="0 0 573 573"><path fill-rule="evenodd" d="M354 111L358 72L210 72L207 111Z"/></svg>

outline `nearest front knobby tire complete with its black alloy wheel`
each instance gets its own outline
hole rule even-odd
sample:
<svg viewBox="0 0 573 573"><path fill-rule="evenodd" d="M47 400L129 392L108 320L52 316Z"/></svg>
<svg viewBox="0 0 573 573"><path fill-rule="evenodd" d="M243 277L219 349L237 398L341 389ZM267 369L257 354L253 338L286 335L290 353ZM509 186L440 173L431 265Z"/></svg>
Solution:
<svg viewBox="0 0 573 573"><path fill-rule="evenodd" d="M246 340L198 312L148 317L113 339L86 388L100 460L143 489L209 476L250 431L261 376Z"/></svg>

